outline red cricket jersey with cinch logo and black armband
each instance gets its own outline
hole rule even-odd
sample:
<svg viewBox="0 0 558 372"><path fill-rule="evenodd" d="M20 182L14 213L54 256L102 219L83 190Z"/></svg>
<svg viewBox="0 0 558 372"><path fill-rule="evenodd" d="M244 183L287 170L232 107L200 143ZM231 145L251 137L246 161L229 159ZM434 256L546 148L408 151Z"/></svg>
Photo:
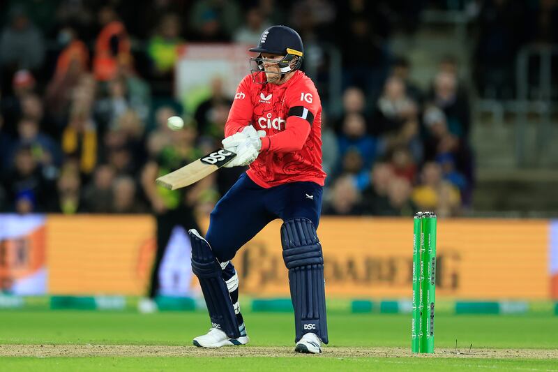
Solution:
<svg viewBox="0 0 558 372"><path fill-rule="evenodd" d="M258 73L257 81L265 79ZM252 125L266 131L262 150L247 174L269 188L294 181L324 186L322 103L317 89L300 70L284 84L257 84L247 75L234 96L225 137Z"/></svg>

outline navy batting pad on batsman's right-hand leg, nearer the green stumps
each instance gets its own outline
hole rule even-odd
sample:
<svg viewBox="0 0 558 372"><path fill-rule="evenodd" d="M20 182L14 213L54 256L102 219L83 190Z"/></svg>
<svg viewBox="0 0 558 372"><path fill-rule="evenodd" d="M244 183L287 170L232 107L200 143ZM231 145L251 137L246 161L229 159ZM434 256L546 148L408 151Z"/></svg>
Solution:
<svg viewBox="0 0 558 372"><path fill-rule="evenodd" d="M295 342L315 333L328 343L324 258L316 229L308 218L292 218L281 226L283 259L289 269L294 308Z"/></svg>

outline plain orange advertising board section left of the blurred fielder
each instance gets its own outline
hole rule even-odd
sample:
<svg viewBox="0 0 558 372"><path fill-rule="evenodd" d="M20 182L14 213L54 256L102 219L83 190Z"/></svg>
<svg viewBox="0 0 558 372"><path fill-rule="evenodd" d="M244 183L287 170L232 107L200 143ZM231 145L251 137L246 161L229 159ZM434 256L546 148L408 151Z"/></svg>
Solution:
<svg viewBox="0 0 558 372"><path fill-rule="evenodd" d="M151 216L47 218L48 292L144 295L155 253Z"/></svg>

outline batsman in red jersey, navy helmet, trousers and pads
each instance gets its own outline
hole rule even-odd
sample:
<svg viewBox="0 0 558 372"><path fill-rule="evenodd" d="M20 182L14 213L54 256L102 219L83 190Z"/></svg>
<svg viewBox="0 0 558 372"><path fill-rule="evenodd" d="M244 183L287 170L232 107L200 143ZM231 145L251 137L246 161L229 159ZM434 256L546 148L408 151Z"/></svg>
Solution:
<svg viewBox="0 0 558 372"><path fill-rule="evenodd" d="M324 259L316 229L322 209L322 105L301 70L304 48L293 29L266 29L236 90L223 147L237 154L226 167L250 165L211 212L204 239L190 230L192 270L199 278L211 329L194 338L203 348L245 345L236 251L281 218L282 255L289 270L296 352L328 343Z"/></svg>

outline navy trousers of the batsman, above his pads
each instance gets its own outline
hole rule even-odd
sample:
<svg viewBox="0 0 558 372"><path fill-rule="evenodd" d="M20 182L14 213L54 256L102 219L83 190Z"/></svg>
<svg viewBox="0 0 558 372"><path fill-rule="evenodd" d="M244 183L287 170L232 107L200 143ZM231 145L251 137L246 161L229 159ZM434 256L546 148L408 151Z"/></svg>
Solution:
<svg viewBox="0 0 558 372"><path fill-rule="evenodd" d="M243 173L211 212L206 239L217 260L225 262L276 218L306 217L317 228L321 209L322 186L315 182L263 188Z"/></svg>

